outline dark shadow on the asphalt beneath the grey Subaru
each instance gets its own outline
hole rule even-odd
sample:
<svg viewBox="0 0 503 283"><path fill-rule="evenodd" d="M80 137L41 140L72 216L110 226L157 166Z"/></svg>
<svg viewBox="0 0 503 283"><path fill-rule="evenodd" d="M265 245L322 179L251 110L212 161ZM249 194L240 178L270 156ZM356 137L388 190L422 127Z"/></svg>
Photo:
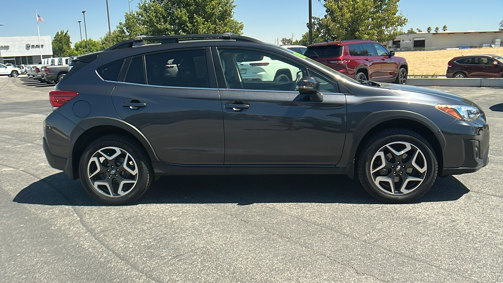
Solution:
<svg viewBox="0 0 503 283"><path fill-rule="evenodd" d="M438 178L417 202L457 200L470 190L456 178ZM23 188L19 203L45 205L101 205L82 188L79 180L57 173ZM247 175L162 177L131 203L381 203L357 180L332 175Z"/></svg>

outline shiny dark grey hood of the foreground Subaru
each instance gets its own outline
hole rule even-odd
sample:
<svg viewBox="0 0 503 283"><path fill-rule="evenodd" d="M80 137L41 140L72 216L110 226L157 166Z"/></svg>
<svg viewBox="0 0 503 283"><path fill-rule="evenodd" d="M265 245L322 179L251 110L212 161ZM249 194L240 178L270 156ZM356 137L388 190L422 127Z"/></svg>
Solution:
<svg viewBox="0 0 503 283"><path fill-rule="evenodd" d="M436 102L439 104L464 104L477 106L475 103L459 95L434 89L397 84L381 84L381 87L390 90L397 90L397 92L395 92L399 95L423 101Z"/></svg>

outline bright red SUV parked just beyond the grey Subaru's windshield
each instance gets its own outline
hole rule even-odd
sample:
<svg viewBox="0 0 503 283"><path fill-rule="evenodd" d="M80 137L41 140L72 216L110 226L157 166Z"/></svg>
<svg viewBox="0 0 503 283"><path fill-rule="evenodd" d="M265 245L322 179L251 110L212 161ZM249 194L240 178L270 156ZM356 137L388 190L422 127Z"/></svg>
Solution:
<svg viewBox="0 0 503 283"><path fill-rule="evenodd" d="M363 40L319 42L307 46L305 56L355 80L407 82L407 60L394 56L380 43Z"/></svg>

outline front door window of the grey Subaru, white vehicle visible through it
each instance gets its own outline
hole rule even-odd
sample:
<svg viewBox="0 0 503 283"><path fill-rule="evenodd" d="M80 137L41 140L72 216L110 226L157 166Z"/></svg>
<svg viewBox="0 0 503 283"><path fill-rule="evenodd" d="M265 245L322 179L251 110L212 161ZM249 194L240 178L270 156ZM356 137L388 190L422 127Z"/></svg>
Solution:
<svg viewBox="0 0 503 283"><path fill-rule="evenodd" d="M274 55L250 50L218 50L227 88L294 91L306 69Z"/></svg>

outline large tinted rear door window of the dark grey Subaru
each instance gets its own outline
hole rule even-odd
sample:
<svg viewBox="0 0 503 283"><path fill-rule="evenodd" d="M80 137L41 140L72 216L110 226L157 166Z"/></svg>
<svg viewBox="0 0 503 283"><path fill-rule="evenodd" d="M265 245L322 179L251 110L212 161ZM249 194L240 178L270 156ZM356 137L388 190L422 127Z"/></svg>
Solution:
<svg viewBox="0 0 503 283"><path fill-rule="evenodd" d="M132 64L132 62L131 62ZM148 85L208 88L204 50L184 50L145 56Z"/></svg>

